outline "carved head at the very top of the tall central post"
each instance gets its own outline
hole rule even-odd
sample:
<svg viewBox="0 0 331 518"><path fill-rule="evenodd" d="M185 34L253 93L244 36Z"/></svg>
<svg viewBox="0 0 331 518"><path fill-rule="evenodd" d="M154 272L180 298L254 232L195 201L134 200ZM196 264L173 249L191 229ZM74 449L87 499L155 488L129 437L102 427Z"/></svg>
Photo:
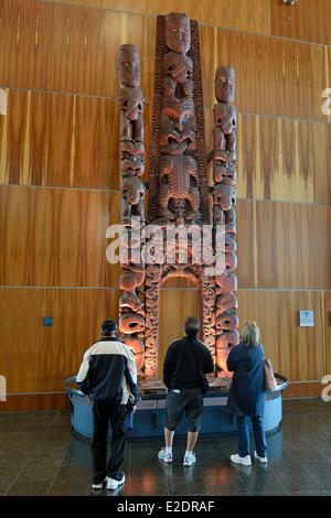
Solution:
<svg viewBox="0 0 331 518"><path fill-rule="evenodd" d="M178 54L186 54L191 46L191 25L186 14L172 12L166 17L166 43Z"/></svg>

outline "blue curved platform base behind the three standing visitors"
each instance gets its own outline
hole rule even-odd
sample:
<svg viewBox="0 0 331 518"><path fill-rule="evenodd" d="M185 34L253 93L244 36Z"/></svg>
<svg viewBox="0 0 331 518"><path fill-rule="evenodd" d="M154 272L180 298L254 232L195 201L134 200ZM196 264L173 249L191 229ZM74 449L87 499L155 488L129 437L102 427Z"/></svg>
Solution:
<svg viewBox="0 0 331 518"><path fill-rule="evenodd" d="M264 424L267 433L275 433L281 427L282 419L282 390L288 386L284 376L275 375L278 389L267 392ZM88 399L73 387L75 377L66 380L66 390L71 402L71 421L74 432L78 436L92 439L93 416ZM159 439L163 436L163 413L166 393L146 393L135 413L134 430L129 432L130 439ZM232 435L237 433L235 419L226 411L227 391L224 389L210 390L204 398L201 422L201 435ZM188 431L185 419L181 421L177 435L185 435ZM109 438L111 436L109 431Z"/></svg>

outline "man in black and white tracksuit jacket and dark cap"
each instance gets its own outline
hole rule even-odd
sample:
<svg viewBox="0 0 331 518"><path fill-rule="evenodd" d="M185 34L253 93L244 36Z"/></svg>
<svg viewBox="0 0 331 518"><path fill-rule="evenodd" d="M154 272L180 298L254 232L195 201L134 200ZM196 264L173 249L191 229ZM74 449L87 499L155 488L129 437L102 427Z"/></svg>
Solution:
<svg viewBox="0 0 331 518"><path fill-rule="evenodd" d="M103 337L84 355L76 381L93 401L94 435L92 487L117 489L125 482L120 471L127 444L128 420L139 400L134 353L116 337L117 324L106 320ZM108 425L111 425L111 457L107 464Z"/></svg>

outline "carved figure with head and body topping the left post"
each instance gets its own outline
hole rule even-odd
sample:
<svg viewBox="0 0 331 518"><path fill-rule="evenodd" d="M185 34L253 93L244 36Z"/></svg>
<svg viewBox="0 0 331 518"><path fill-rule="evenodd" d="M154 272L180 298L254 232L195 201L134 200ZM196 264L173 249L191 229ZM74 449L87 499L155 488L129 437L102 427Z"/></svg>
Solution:
<svg viewBox="0 0 331 518"><path fill-rule="evenodd" d="M143 141L143 97L139 88L140 58L136 45L119 47L118 68L122 86L119 89L121 140Z"/></svg>

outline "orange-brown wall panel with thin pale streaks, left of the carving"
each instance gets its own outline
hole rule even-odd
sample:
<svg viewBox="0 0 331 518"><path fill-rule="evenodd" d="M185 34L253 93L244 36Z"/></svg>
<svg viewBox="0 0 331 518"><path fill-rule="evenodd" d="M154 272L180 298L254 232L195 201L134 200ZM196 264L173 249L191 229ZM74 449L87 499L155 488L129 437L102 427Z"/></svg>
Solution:
<svg viewBox="0 0 331 518"><path fill-rule="evenodd" d="M145 111L149 147L150 105ZM0 183L118 190L118 136L115 100L11 89L0 118Z"/></svg>

